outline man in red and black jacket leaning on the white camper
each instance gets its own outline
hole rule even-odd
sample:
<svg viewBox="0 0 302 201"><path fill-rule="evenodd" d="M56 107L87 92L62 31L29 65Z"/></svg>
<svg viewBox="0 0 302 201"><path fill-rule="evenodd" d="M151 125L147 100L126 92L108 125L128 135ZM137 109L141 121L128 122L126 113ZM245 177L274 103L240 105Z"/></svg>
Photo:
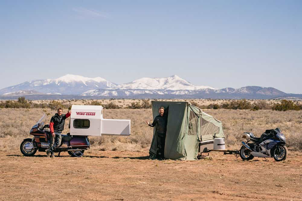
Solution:
<svg viewBox="0 0 302 201"><path fill-rule="evenodd" d="M62 108L58 109L58 113L56 113L53 117L50 119L49 128L52 137L54 138L50 140L50 148L46 149L47 156L54 157L54 150L58 148L61 145L62 141L62 131L64 130L64 124L65 120L70 116L71 112L68 110L68 113L62 114L63 110ZM53 142L54 141L54 142Z"/></svg>

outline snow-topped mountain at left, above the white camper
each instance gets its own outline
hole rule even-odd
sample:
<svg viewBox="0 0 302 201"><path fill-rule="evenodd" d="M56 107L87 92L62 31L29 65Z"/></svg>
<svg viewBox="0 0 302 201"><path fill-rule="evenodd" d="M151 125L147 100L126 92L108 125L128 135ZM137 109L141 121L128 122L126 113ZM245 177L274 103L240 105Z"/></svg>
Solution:
<svg viewBox="0 0 302 201"><path fill-rule="evenodd" d="M111 88L116 84L101 77L86 78L79 75L64 75L56 79L32 80L0 90L1 94L17 91L38 91L43 94L81 94L99 88Z"/></svg>

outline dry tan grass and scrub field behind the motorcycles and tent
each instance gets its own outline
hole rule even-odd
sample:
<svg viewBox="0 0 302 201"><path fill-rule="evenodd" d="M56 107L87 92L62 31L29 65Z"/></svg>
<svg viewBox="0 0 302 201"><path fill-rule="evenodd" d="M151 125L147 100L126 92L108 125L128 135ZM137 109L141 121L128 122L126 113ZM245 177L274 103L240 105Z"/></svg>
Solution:
<svg viewBox="0 0 302 201"><path fill-rule="evenodd" d="M260 136L266 129L279 127L286 136L290 150L302 150L302 111L272 110L203 110L223 122L226 145L240 148L242 133L253 132ZM31 137L29 130L43 113L48 113L46 123L56 111L50 109L0 109L0 151L19 151L24 138ZM66 111L63 111L66 112ZM119 150L142 152L149 149L152 140L152 128L145 120L152 120L151 109L104 109L104 118L130 119L131 135L92 136L89 137L93 150ZM69 132L69 121L65 123L63 133Z"/></svg>

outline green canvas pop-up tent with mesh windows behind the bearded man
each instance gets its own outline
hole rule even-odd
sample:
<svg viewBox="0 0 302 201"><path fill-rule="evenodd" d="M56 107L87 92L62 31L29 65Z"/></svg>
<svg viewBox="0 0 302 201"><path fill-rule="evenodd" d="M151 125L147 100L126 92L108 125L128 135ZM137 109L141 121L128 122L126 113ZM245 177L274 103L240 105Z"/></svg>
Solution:
<svg viewBox="0 0 302 201"><path fill-rule="evenodd" d="M164 107L168 111L167 132L165 139L165 158L194 160L198 156L199 142L216 138L224 138L222 122L204 113L189 102L152 101L153 119L159 115L158 109ZM150 155L156 155L156 127Z"/></svg>

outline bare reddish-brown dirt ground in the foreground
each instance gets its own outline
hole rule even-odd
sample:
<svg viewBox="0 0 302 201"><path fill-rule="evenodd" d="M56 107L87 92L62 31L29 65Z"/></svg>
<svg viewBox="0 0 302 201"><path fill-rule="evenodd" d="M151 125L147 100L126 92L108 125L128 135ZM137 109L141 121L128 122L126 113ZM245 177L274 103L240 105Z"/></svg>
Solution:
<svg viewBox="0 0 302 201"><path fill-rule="evenodd" d="M286 161L211 152L213 160L149 160L147 152L81 158L0 152L0 200L302 200L302 153Z"/></svg>

